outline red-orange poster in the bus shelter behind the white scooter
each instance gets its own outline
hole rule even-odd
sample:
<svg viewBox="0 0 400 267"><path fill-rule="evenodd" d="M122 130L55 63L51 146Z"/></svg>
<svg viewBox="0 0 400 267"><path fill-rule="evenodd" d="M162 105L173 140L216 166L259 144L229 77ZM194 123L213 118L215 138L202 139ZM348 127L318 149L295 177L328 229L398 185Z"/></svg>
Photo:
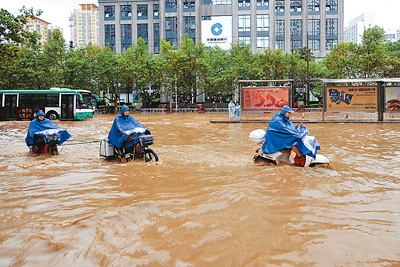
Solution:
<svg viewBox="0 0 400 267"><path fill-rule="evenodd" d="M243 88L243 110L280 110L289 105L289 87Z"/></svg>

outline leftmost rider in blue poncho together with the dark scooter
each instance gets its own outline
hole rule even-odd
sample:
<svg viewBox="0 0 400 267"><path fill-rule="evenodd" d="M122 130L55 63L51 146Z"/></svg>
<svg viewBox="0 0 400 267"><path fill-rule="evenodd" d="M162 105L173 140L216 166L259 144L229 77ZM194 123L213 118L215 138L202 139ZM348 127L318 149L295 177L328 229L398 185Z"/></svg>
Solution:
<svg viewBox="0 0 400 267"><path fill-rule="evenodd" d="M46 119L44 112L39 110L35 119L29 124L25 142L37 154L51 152L56 155L58 154L57 145L61 145L70 137L71 135L66 130Z"/></svg>

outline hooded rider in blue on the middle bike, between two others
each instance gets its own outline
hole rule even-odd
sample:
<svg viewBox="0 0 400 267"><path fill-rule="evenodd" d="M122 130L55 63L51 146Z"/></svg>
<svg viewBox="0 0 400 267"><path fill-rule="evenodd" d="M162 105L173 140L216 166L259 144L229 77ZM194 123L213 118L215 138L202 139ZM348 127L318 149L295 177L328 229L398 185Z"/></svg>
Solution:
<svg viewBox="0 0 400 267"><path fill-rule="evenodd" d="M145 134L150 134L150 131L146 127L144 127L143 124L141 124L129 115L129 107L127 105L123 105L121 108L121 115L118 115L114 119L110 133L108 134L108 140L117 148L128 148L136 145L139 140L136 140L135 142L130 142L128 144L124 143L124 141L128 137L128 135L126 134L127 131L137 128L143 129L143 132Z"/></svg>

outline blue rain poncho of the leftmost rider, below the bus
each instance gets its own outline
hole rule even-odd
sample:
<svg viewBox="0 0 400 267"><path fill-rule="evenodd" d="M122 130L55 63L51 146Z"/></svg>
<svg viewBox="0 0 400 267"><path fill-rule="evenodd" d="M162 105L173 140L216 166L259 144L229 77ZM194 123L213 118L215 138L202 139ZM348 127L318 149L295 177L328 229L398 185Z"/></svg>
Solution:
<svg viewBox="0 0 400 267"><path fill-rule="evenodd" d="M45 138L53 135L57 135L60 140L58 145L61 145L71 137L71 135L66 130L64 130L51 120L46 118L44 118L43 120L39 120L39 116L45 116L42 110L38 111L35 118L29 124L28 134L25 138L27 146L36 145L37 143L43 142Z"/></svg>

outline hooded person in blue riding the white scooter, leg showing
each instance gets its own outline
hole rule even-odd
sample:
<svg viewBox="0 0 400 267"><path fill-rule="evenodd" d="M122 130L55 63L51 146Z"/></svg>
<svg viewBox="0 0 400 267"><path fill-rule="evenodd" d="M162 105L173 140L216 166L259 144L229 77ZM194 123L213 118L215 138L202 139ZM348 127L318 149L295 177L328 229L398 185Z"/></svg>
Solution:
<svg viewBox="0 0 400 267"><path fill-rule="evenodd" d="M297 149L296 145L300 139L307 135L307 133L297 128L290 120L290 114L294 111L285 105L282 107L280 113L275 114L269 122L267 132L265 133L265 143L262 150L265 154L277 152L285 148L291 148L296 152L299 158L303 155Z"/></svg>

